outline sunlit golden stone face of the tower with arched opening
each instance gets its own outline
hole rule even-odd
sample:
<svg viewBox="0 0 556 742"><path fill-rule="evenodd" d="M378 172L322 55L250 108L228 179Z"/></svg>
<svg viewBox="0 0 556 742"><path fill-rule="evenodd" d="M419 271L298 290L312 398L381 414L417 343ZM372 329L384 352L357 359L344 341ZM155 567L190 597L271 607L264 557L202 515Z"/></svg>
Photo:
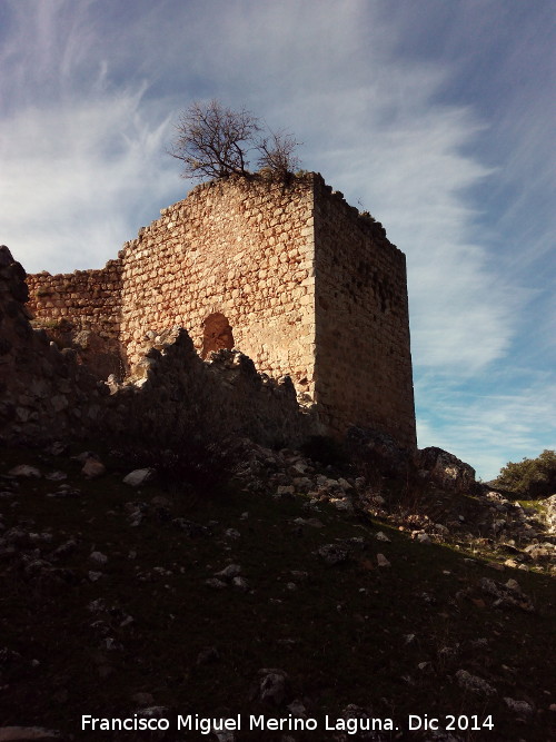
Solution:
<svg viewBox="0 0 556 742"><path fill-rule="evenodd" d="M231 347L231 336L259 372L312 393L311 182L202 184L123 246L120 339L131 365L149 330L182 326L199 353Z"/></svg>

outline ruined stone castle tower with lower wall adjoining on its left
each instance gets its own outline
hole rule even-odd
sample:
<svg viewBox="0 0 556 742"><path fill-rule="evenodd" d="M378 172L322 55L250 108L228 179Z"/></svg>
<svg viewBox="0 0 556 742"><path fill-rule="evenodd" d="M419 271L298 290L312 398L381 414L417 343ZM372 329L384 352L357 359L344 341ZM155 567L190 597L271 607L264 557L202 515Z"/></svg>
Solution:
<svg viewBox="0 0 556 742"><path fill-rule="evenodd" d="M105 268L28 284L37 320L92 332L105 372L182 326L202 357L236 347L289 375L326 429L416 445L405 256L319 175L199 185Z"/></svg>

